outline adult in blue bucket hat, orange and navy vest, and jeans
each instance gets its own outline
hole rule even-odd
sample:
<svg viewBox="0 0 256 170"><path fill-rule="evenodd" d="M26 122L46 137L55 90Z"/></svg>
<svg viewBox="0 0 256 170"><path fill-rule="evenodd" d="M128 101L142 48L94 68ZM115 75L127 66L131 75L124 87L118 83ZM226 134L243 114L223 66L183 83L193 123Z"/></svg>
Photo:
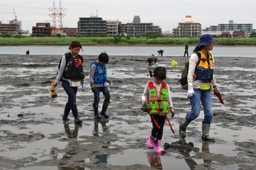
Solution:
<svg viewBox="0 0 256 170"><path fill-rule="evenodd" d="M213 44L216 42L209 34L200 36L200 42L193 50L189 59L188 68L188 92L187 97L190 99L191 112L188 113L179 126L181 138L186 137L186 128L189 123L195 120L200 114L200 101L204 108L204 121L202 122L202 139L209 142L215 142L214 138L209 136L210 124L212 122L212 95L210 88L218 90L214 78L214 59L209 53L213 50Z"/></svg>

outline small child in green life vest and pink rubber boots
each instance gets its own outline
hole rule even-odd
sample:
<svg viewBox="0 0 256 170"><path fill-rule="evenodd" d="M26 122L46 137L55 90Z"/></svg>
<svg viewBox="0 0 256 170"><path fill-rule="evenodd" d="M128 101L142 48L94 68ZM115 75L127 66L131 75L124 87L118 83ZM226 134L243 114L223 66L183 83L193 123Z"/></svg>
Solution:
<svg viewBox="0 0 256 170"><path fill-rule="evenodd" d="M160 145L166 116L171 111L172 117L174 117L175 112L169 86L163 81L166 79L166 69L156 67L153 75L150 71L150 77L152 76L154 76L154 80L147 82L142 94L142 111L150 114L153 125L151 134L148 136L147 147L155 148L155 152L162 153L165 152Z"/></svg>

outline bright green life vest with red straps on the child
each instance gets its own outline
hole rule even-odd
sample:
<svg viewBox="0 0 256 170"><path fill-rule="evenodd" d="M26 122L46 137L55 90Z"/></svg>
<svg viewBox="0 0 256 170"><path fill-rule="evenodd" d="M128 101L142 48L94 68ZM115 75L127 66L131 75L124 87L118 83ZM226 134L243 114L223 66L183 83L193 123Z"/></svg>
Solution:
<svg viewBox="0 0 256 170"><path fill-rule="evenodd" d="M168 102L168 91L166 89L167 83L162 82L162 87L160 90L160 99L158 99L158 94L156 88L152 81L147 82L148 87L150 87L150 101L147 103L149 111L148 114L168 114L169 113L169 102Z"/></svg>

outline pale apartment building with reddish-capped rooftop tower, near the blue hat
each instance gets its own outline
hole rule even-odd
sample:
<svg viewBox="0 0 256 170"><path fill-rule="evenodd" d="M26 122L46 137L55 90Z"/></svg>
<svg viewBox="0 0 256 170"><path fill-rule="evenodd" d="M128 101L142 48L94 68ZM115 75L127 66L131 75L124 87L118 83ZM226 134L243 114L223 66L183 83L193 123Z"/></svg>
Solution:
<svg viewBox="0 0 256 170"><path fill-rule="evenodd" d="M184 23L181 22L177 28L172 29L172 35L174 37L200 37L201 24L193 23L192 17L187 15Z"/></svg>

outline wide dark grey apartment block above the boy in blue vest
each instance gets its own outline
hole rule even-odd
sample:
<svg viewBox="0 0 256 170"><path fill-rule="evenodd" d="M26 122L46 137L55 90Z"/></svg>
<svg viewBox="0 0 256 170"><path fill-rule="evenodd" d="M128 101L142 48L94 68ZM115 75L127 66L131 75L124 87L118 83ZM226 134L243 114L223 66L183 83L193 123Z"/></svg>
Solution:
<svg viewBox="0 0 256 170"><path fill-rule="evenodd" d="M98 36L100 34L106 34L106 20L102 20L102 18L97 16L79 18L79 22L77 22L77 33L82 36Z"/></svg>

